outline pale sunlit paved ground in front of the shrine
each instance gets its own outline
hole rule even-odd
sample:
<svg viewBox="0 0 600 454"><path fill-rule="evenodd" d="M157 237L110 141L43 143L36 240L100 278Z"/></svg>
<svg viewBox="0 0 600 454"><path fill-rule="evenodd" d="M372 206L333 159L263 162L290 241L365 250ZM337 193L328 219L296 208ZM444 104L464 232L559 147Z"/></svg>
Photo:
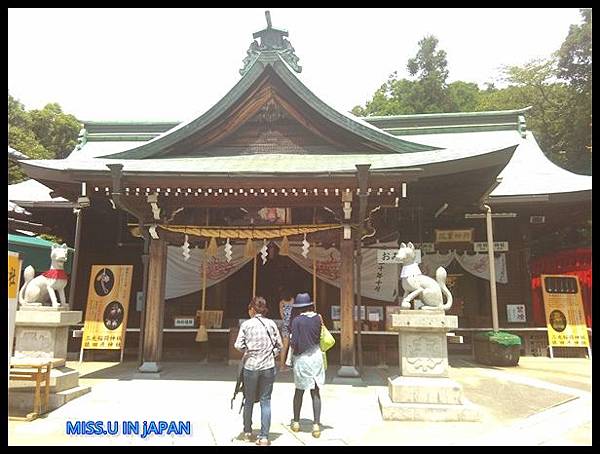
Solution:
<svg viewBox="0 0 600 454"><path fill-rule="evenodd" d="M591 361L522 357L519 367L474 364L450 358L450 376L482 412L480 422L384 421L377 394L393 369L367 368L364 385L331 384L322 390L323 432L311 436L312 408L306 393L302 430L289 430L293 380L280 373L272 397L273 445L591 445ZM32 422L9 421L10 445L244 445L230 398L235 366L165 363L159 380L140 379L133 363L68 363L92 391ZM254 410L258 432L259 406ZM189 420L190 436L67 436L66 421Z"/></svg>

